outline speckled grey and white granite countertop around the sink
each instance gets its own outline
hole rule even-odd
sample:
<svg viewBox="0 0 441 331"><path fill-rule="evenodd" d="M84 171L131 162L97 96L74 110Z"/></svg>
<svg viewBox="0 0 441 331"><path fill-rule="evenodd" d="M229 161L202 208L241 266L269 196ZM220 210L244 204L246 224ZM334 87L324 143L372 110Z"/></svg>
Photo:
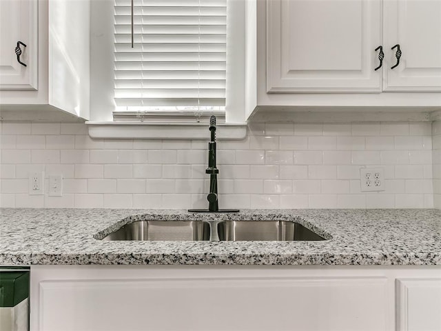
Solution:
<svg viewBox="0 0 441 331"><path fill-rule="evenodd" d="M102 241L150 220L288 220L325 241ZM0 265L441 265L441 210L0 209Z"/></svg>

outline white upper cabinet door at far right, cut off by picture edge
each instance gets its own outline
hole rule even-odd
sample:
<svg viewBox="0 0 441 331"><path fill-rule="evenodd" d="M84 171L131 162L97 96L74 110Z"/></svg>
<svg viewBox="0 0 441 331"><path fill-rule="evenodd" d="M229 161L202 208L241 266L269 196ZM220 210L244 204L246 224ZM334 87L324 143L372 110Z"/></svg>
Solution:
<svg viewBox="0 0 441 331"><path fill-rule="evenodd" d="M384 90L441 91L441 0L384 1L384 53Z"/></svg>

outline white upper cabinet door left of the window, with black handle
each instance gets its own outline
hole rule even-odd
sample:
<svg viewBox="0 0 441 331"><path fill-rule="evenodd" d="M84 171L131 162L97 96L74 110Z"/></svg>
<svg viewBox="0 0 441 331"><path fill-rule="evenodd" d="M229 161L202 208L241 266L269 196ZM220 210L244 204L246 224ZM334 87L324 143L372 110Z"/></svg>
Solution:
<svg viewBox="0 0 441 331"><path fill-rule="evenodd" d="M37 90L37 0L0 1L0 90ZM20 46L20 61L15 48Z"/></svg>

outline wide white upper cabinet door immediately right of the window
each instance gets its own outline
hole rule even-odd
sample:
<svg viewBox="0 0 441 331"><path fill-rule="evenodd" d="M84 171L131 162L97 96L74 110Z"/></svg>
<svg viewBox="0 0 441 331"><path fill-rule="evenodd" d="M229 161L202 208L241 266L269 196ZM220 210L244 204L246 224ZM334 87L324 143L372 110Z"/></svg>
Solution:
<svg viewBox="0 0 441 331"><path fill-rule="evenodd" d="M380 92L379 0L267 1L267 92Z"/></svg>

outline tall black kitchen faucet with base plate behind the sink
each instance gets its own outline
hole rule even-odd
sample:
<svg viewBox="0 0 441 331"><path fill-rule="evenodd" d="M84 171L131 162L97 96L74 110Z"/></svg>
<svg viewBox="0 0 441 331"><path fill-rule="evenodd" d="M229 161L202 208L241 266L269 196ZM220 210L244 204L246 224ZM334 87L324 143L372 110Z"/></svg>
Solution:
<svg viewBox="0 0 441 331"><path fill-rule="evenodd" d="M238 209L219 209L218 204L218 173L216 168L216 117L209 119L209 131L211 141L208 143L208 168L205 173L209 174L209 194L207 194L208 209L189 209L189 212L238 212Z"/></svg>

